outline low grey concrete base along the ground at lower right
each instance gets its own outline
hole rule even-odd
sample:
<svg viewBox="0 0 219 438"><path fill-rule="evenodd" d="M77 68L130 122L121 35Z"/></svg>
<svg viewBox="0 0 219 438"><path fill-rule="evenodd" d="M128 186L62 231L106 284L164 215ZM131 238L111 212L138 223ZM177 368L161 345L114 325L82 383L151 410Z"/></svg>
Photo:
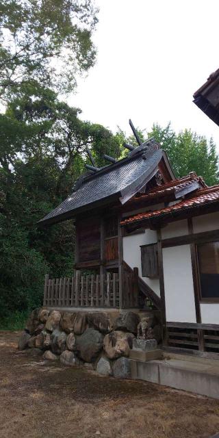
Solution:
<svg viewBox="0 0 219 438"><path fill-rule="evenodd" d="M131 377L219 399L219 364L179 359L140 362L131 359Z"/></svg>

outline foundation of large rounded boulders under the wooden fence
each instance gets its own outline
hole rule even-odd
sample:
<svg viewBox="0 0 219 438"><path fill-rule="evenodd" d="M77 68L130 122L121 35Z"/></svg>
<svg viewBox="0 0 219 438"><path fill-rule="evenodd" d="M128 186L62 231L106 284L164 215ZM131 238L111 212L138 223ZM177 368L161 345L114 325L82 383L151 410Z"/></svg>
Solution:
<svg viewBox="0 0 219 438"><path fill-rule="evenodd" d="M84 366L105 376L129 378L129 352L142 316L136 311L60 311L42 307L29 315L18 348L27 349L35 357L42 355L44 360L60 360L64 365ZM151 326L159 327L154 315Z"/></svg>

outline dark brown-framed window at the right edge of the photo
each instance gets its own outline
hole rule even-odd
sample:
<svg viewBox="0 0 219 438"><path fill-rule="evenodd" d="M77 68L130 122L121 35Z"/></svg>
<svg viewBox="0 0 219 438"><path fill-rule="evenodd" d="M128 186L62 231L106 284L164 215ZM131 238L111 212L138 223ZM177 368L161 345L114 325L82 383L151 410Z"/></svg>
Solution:
<svg viewBox="0 0 219 438"><path fill-rule="evenodd" d="M201 298L219 300L219 242L197 245Z"/></svg>

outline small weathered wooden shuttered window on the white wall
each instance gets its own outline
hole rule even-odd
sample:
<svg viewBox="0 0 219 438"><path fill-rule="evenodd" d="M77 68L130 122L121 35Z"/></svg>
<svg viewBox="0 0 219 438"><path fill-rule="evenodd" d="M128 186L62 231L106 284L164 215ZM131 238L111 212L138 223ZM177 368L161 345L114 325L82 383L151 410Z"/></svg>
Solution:
<svg viewBox="0 0 219 438"><path fill-rule="evenodd" d="M149 276L151 279L159 277L157 244L141 246L142 276Z"/></svg>

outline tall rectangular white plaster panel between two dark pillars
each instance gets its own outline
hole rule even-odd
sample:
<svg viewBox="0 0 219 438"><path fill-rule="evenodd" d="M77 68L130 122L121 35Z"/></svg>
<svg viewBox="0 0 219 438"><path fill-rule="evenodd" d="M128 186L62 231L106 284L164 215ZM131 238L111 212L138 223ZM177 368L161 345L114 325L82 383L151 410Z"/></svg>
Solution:
<svg viewBox="0 0 219 438"><path fill-rule="evenodd" d="M166 320L196 322L190 245L163 249Z"/></svg>

